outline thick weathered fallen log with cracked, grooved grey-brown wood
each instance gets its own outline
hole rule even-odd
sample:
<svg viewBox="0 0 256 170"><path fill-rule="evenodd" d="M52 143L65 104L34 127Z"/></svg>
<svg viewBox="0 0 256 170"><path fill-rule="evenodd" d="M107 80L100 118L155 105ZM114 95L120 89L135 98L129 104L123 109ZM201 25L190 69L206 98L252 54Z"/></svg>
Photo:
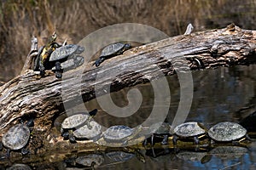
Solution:
<svg viewBox="0 0 256 170"><path fill-rule="evenodd" d="M166 76L177 70L188 71L188 68L250 65L256 61L255 51L256 31L230 25L131 48L105 60L100 67L92 67L90 62L67 71L62 80L55 78L51 71L40 77L27 70L0 87L0 136L19 122L19 118L34 117L35 129L44 132L42 138L46 138L55 117L65 112L61 93L66 94L65 102L79 104L78 96L82 95L84 102L96 98L96 85L102 86L99 89L102 95L108 93L109 85L111 92L118 91L158 78L159 72ZM117 72L119 74L112 77Z"/></svg>

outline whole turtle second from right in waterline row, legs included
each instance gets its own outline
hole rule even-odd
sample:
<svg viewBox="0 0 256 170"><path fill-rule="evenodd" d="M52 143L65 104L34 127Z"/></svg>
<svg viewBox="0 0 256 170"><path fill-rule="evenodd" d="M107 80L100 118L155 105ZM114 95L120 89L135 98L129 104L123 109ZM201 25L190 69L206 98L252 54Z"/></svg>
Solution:
<svg viewBox="0 0 256 170"><path fill-rule="evenodd" d="M206 135L206 127L204 127L199 122L184 122L173 130L173 144L177 144L178 138L193 138L195 144L199 144L198 137L201 135Z"/></svg>

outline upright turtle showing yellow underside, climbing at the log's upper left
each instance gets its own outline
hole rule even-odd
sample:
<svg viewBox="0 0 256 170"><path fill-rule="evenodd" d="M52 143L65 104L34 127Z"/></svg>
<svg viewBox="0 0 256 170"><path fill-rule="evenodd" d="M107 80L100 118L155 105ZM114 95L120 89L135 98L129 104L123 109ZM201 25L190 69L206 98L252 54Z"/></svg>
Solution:
<svg viewBox="0 0 256 170"><path fill-rule="evenodd" d="M56 48L61 47L60 44L55 42L57 38L56 33L54 32L51 37L49 37L48 42L41 48L38 49L38 56L34 61L34 71L40 71L40 75L44 76L45 70L48 70L51 67L49 63L50 54L55 51Z"/></svg>

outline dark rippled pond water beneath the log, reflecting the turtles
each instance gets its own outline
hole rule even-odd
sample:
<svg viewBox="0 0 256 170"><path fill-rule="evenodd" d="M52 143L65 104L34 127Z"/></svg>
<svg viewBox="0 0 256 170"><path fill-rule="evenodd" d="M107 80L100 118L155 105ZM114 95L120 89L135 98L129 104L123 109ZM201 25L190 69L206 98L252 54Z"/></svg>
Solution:
<svg viewBox="0 0 256 170"><path fill-rule="evenodd" d="M219 67L205 71L193 71L194 98L188 121L203 122L211 127L217 122L241 122L255 111L255 74L256 65L234 66L229 68ZM179 83L177 76L167 77L172 103L166 117L166 122L172 122L179 103ZM151 111L154 90L148 84L139 85L136 88L142 90L143 105L137 112L139 116L128 118L116 118L108 116L101 111L101 108L92 100L87 103L93 108L98 108L96 121L105 126L113 124L125 124L127 126L143 122L147 118L148 111ZM112 94L116 105L127 105L125 94L129 89L125 88L120 92ZM152 96L153 95L153 96ZM153 102L154 104L154 102ZM242 109L243 108L243 109ZM143 116L143 114L146 116ZM255 115L255 114L254 114ZM255 118L255 116L254 116ZM250 118L252 119L252 118ZM136 121L137 120L137 121ZM132 122L132 123L131 123ZM248 129L254 127L253 122L244 124ZM255 129L255 128L254 128ZM253 140L255 134L249 132ZM204 145L200 150L194 146L187 149L174 150L172 144L161 146L156 144L154 148L149 145L143 148L139 145L138 150L125 150L109 148L105 151L73 152L60 155L38 155L35 157L24 156L22 160L0 161L3 167L11 167L15 163L26 163L30 168L36 169L73 169L79 167L84 169L94 165L102 169L254 169L256 168L256 142L252 141L244 146L220 145L214 148L207 148ZM222 147L222 148L221 148ZM219 149L220 148L220 149ZM143 157L140 158L140 156ZM80 161L79 161L80 160ZM86 163L83 166L81 160ZM145 162L143 162L143 160Z"/></svg>

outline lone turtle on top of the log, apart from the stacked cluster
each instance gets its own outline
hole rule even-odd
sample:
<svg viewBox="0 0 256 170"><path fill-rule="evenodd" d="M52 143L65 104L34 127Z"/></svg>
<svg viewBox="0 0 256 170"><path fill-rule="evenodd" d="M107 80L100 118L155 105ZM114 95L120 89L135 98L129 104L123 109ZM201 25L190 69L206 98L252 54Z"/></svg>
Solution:
<svg viewBox="0 0 256 170"><path fill-rule="evenodd" d="M105 59L109 59L113 56L123 54L125 50L131 48L129 43L116 42L108 45L102 49L99 59L96 59L93 65L99 66Z"/></svg>

